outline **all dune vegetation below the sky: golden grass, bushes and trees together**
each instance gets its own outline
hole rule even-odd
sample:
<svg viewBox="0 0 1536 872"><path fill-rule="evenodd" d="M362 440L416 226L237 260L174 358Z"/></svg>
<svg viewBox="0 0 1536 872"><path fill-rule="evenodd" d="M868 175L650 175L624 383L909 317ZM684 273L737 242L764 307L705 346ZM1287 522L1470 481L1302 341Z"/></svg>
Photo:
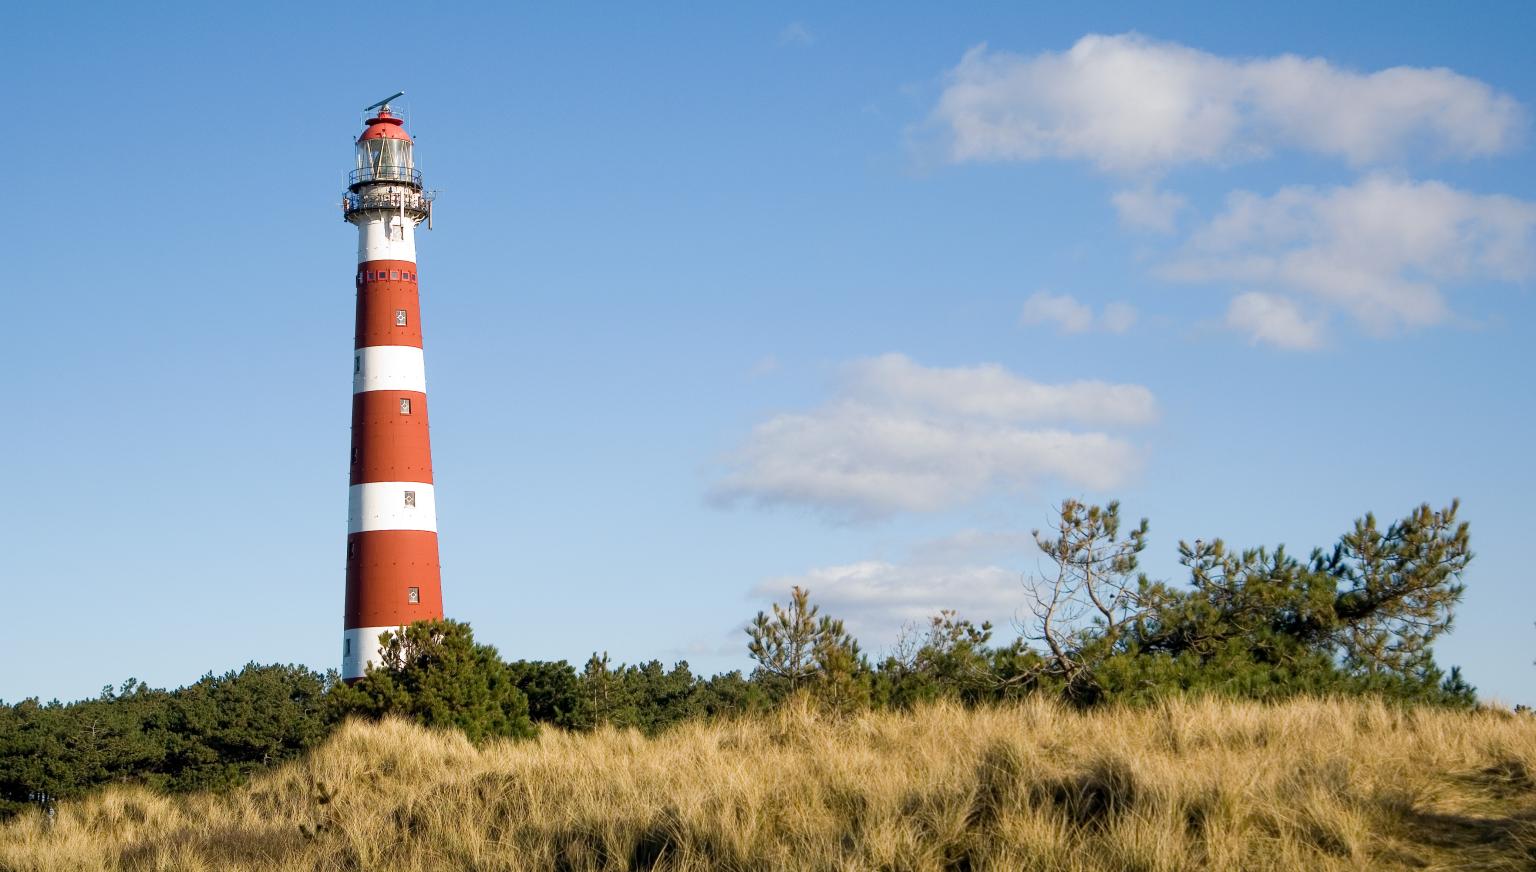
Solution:
<svg viewBox="0 0 1536 872"><path fill-rule="evenodd" d="M356 683L249 665L0 705L0 870L1536 867L1536 717L1433 642L1456 504L1303 560L1066 500L1018 637L879 659L793 588L750 674L507 662L462 622Z"/></svg>

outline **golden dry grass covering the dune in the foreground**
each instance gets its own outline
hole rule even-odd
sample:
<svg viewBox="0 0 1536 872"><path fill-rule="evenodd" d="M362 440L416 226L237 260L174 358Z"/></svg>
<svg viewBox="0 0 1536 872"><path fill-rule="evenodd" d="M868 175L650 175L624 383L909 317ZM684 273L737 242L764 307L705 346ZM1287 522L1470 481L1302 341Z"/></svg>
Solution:
<svg viewBox="0 0 1536 872"><path fill-rule="evenodd" d="M1044 702L475 748L352 723L223 795L109 789L0 867L1531 869L1536 718L1370 702Z"/></svg>

